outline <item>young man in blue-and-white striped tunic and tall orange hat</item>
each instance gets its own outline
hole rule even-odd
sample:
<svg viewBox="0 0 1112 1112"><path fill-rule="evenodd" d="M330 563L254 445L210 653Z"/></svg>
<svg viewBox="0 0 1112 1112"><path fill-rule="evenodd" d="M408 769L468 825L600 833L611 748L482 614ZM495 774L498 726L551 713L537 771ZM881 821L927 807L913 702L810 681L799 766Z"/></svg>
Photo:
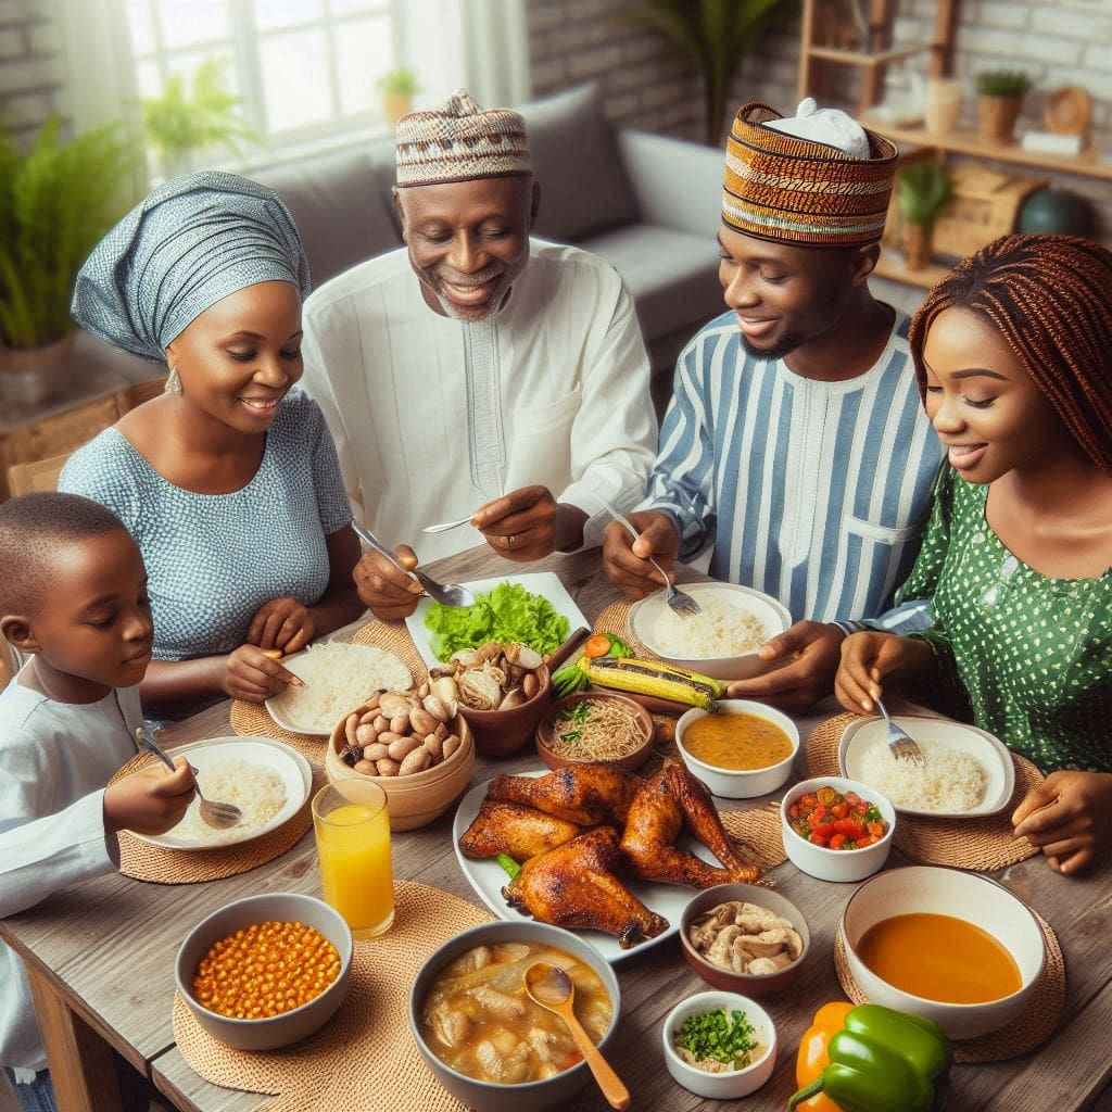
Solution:
<svg viewBox="0 0 1112 1112"><path fill-rule="evenodd" d="M719 277L728 311L679 356L642 536L606 530L627 595L714 546L711 575L781 599L795 625L776 671L736 696L802 707L831 689L842 631L892 604L911 569L942 463L907 348L909 319L876 301L896 149L813 100L793 119L741 108L727 145ZM930 620L901 610L896 627Z"/></svg>

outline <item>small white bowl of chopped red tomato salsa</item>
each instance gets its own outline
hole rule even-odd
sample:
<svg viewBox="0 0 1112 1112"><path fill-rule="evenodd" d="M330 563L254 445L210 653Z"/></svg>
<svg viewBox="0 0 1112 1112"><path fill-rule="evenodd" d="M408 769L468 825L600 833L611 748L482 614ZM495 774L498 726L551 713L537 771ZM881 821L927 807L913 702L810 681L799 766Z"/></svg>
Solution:
<svg viewBox="0 0 1112 1112"><path fill-rule="evenodd" d="M875 787L842 776L796 784L781 804L784 850L820 881L862 881L887 860L896 813Z"/></svg>

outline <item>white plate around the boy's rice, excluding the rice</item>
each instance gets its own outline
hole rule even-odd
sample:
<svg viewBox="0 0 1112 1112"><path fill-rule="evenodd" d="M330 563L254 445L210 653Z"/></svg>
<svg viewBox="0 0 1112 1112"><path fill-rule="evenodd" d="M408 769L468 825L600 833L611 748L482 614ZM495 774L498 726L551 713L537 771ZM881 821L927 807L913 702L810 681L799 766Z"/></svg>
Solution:
<svg viewBox="0 0 1112 1112"><path fill-rule="evenodd" d="M148 835L135 834L133 837L150 845L161 846L163 850L214 850L228 845L238 845L241 842L251 842L264 834L281 826L282 823L292 818L304 806L312 790L312 770L309 762L296 749L276 742L269 737L211 737L205 742L192 742L176 749L168 751L169 756L188 757L189 763L197 770L197 782L201 791L205 791L205 770L211 770L218 761L248 761L259 767L266 767L276 772L281 778L286 788L286 802L278 810L266 825L258 830L245 827L238 830L231 827L226 831L212 831L212 837L205 841L195 841L175 835L177 827L168 830L165 834ZM211 798L211 796L210 796ZM226 802L214 800L214 802ZM196 811L199 801L193 798L189 804L187 815Z"/></svg>

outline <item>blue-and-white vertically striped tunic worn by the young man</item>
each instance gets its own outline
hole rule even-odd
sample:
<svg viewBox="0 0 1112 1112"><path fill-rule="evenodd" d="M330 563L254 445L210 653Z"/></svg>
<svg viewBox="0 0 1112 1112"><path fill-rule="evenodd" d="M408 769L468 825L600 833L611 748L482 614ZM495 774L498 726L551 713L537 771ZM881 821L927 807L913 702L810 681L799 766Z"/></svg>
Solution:
<svg viewBox="0 0 1112 1112"><path fill-rule="evenodd" d="M920 403L905 314L876 364L838 383L758 359L724 312L679 356L639 508L669 513L682 559L778 598L795 620L871 618L919 550L943 453Z"/></svg>

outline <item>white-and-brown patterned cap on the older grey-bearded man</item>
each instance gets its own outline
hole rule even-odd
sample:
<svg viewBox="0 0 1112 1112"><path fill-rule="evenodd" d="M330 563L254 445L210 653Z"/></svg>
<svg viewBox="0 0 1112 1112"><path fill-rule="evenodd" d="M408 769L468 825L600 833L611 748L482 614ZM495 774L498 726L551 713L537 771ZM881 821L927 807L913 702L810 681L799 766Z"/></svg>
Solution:
<svg viewBox="0 0 1112 1112"><path fill-rule="evenodd" d="M533 172L522 117L506 108L484 111L465 89L439 108L403 116L397 153L399 186Z"/></svg>

